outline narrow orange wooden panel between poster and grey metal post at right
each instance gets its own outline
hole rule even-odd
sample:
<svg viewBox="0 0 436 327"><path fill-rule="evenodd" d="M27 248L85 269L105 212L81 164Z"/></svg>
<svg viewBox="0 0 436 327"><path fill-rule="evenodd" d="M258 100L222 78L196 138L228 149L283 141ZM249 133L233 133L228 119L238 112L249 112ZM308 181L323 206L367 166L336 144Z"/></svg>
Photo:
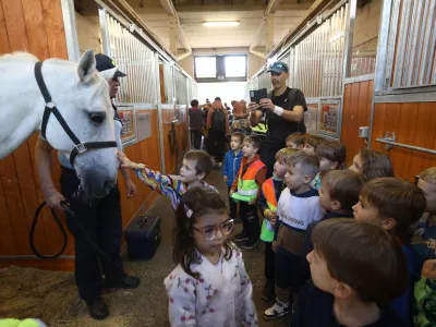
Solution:
<svg viewBox="0 0 436 327"><path fill-rule="evenodd" d="M370 126L374 80L346 84L342 110L341 143L347 148L346 164L366 147L365 140L359 137L359 128Z"/></svg>

